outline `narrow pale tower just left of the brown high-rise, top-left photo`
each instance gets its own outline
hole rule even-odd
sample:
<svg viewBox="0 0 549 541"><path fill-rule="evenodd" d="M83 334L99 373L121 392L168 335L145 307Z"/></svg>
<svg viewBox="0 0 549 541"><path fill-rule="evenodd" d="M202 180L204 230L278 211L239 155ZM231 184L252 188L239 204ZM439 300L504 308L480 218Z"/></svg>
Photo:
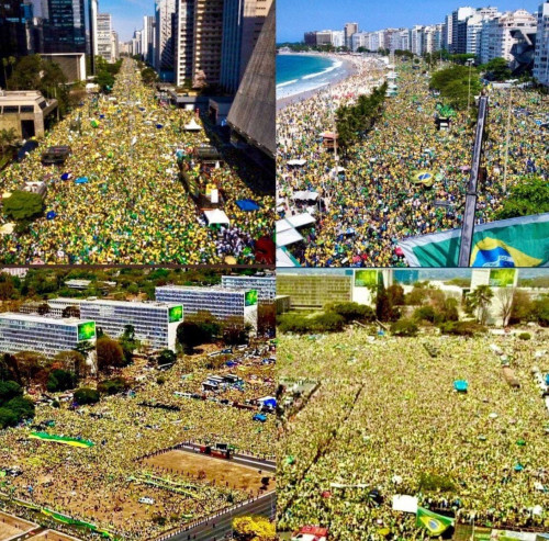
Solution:
<svg viewBox="0 0 549 541"><path fill-rule="evenodd" d="M163 80L173 78L175 16L176 0L157 0L155 8L155 69ZM141 49L141 44L138 48Z"/></svg>

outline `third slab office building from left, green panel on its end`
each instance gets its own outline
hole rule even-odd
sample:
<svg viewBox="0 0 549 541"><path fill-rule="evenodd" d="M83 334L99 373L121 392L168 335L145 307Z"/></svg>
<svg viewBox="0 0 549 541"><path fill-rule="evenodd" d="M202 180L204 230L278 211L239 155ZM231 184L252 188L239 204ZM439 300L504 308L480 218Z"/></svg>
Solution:
<svg viewBox="0 0 549 541"><path fill-rule="evenodd" d="M161 303L180 303L187 316L209 313L222 319L239 319L257 328L257 290L229 290L226 288L201 288L195 285L163 285L155 289Z"/></svg>

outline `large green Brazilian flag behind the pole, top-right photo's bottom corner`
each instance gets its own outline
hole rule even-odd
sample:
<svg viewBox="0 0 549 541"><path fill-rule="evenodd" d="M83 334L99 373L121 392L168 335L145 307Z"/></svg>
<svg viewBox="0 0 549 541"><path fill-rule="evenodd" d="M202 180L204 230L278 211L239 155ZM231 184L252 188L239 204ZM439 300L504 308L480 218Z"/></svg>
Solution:
<svg viewBox="0 0 549 541"><path fill-rule="evenodd" d="M399 241L410 267L458 267L461 229ZM549 213L474 227L471 267L549 266Z"/></svg>

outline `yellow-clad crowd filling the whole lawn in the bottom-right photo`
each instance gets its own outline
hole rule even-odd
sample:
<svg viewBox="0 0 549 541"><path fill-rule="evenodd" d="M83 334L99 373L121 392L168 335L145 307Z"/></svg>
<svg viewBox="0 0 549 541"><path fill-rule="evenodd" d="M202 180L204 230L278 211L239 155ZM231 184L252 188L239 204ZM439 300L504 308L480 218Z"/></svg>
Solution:
<svg viewBox="0 0 549 541"><path fill-rule="evenodd" d="M547 410L531 375L534 365L549 370L546 339L279 337L280 373L320 382L279 438L279 529L313 523L334 540L429 539L415 515L392 510L393 495L406 494L458 523L548 531ZM469 383L467 394L456 380Z"/></svg>

